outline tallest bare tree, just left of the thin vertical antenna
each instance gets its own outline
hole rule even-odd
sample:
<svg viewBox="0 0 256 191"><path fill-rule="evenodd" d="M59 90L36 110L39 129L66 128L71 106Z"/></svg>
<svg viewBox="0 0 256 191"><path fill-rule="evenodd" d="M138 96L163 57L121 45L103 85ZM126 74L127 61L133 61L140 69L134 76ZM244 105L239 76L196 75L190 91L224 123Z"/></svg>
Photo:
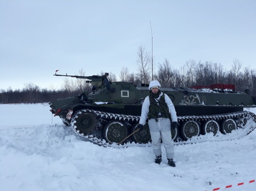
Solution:
<svg viewBox="0 0 256 191"><path fill-rule="evenodd" d="M151 53L146 51L145 45L140 45L138 47L137 56L137 77L138 79L141 79L141 83L149 83L151 72Z"/></svg>

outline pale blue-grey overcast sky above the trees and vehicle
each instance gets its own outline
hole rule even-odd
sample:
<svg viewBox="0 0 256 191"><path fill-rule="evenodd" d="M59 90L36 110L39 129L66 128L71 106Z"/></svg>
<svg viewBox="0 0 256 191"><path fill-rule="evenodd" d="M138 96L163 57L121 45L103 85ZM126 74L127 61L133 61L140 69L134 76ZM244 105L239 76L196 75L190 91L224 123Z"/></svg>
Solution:
<svg viewBox="0 0 256 191"><path fill-rule="evenodd" d="M83 68L136 72L145 45L154 63L234 58L256 68L256 0L0 0L0 89L60 88ZM156 69L157 70L157 67Z"/></svg>

